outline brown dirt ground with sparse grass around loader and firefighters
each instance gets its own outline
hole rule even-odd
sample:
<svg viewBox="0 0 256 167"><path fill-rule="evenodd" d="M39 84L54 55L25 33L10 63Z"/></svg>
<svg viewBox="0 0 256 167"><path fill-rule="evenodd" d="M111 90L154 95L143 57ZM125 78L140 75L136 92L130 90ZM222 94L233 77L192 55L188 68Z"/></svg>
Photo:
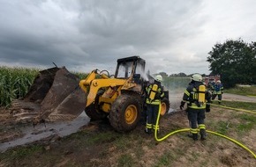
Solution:
<svg viewBox="0 0 256 167"><path fill-rule="evenodd" d="M178 109L181 96L180 93L170 96L171 108L175 112L162 118L160 136L188 127L186 113ZM256 103L256 98L230 94L223 96L223 99ZM215 125L214 122L225 122L227 129L230 130L229 136L242 142L256 153L255 128L249 132L237 134L232 125L239 123L240 120L236 120L232 115L231 110L213 106L211 113L207 113L207 129L219 129L218 124ZM29 126L32 126L31 123L17 123L9 111L0 110L0 145L22 137L24 135L22 129ZM142 122L129 134L117 134L110 127L109 122L91 122L87 126L80 127L79 133L85 133L86 136L110 133L113 137L87 146L81 144L78 149L77 143L81 140L88 142L88 140L71 137L72 140L69 141L67 138L63 140L59 136L50 136L27 144L31 146L40 143L44 147L43 154L35 154L30 160L19 160L21 163L1 162L0 160L0 166L19 166L19 163L20 166L31 164L38 164L38 166L256 166L256 159L252 154L237 144L214 134L207 134L207 141L203 142L193 142L186 136L187 133L173 134L163 142L156 142L154 135L144 134L144 127ZM118 145L123 137L127 138L124 143L122 142L125 147ZM131 142L131 140L134 141ZM58 161L49 160L49 163L45 163L44 158L48 153L51 156L58 156ZM128 162L125 161L125 157L128 158ZM34 163L31 163L31 160Z"/></svg>

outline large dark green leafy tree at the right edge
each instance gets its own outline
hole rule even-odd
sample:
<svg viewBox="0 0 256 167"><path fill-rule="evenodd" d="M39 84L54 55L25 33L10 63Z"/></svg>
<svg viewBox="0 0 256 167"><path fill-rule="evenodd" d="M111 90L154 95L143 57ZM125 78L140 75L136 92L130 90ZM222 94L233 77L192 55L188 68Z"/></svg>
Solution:
<svg viewBox="0 0 256 167"><path fill-rule="evenodd" d="M208 54L211 75L221 75L225 87L236 84L255 84L256 42L245 43L244 40L227 40L215 44Z"/></svg>

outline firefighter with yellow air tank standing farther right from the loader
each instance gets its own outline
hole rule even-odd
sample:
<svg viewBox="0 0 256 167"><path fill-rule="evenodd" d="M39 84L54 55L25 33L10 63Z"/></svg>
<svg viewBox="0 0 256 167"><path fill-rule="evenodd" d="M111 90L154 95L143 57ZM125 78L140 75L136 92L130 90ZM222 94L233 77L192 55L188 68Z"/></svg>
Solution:
<svg viewBox="0 0 256 167"><path fill-rule="evenodd" d="M210 112L211 94L207 91L206 86L202 83L200 74L192 75L192 81L184 91L183 100L180 109L183 110L184 104L187 103L187 116L190 122L190 135L194 141L199 138L198 126L200 129L200 139L206 140L205 112Z"/></svg>

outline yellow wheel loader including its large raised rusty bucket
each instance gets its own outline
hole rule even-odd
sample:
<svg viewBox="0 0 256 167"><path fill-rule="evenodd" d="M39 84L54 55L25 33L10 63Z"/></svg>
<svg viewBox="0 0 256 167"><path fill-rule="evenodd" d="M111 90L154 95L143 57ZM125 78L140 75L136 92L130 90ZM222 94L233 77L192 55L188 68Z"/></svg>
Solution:
<svg viewBox="0 0 256 167"><path fill-rule="evenodd" d="M139 56L118 59L115 75L94 69L83 80L65 68L42 70L26 97L12 103L12 113L37 123L73 120L85 111L91 120L109 119L118 132L131 131L145 116L145 88L154 81L145 64ZM162 115L169 111L169 91L164 92Z"/></svg>

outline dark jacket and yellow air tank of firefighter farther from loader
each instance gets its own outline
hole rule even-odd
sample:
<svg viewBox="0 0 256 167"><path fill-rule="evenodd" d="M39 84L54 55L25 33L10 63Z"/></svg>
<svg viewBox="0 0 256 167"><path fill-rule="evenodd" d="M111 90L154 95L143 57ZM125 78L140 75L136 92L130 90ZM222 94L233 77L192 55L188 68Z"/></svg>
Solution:
<svg viewBox="0 0 256 167"><path fill-rule="evenodd" d="M186 102L189 108L206 109L210 106L211 93L206 88L200 91L201 86L205 87L201 82L192 82L184 91L183 102Z"/></svg>

